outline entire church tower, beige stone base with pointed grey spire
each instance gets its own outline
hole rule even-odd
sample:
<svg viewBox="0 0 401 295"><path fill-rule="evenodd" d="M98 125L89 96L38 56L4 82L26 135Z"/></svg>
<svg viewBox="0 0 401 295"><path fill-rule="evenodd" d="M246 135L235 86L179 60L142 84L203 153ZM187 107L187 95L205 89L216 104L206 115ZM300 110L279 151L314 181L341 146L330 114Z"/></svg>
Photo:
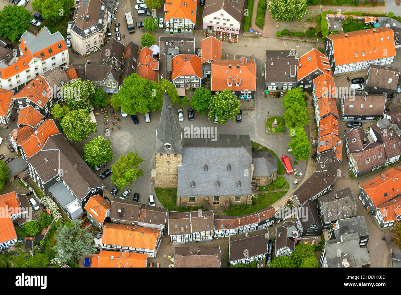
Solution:
<svg viewBox="0 0 401 295"><path fill-rule="evenodd" d="M182 164L184 142L178 121L167 91L164 91L162 114L156 130L154 147L156 163L156 188L177 188L178 165Z"/></svg>

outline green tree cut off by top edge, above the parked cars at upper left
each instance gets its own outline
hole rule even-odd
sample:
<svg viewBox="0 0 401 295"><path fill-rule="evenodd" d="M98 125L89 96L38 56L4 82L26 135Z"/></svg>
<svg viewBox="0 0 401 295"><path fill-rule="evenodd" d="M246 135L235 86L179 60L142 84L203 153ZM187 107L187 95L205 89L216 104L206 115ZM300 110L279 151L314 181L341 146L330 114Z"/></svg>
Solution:
<svg viewBox="0 0 401 295"><path fill-rule="evenodd" d="M34 0L32 9L36 12L41 12L44 18L60 21L69 14L70 8L74 4L74 0Z"/></svg>

